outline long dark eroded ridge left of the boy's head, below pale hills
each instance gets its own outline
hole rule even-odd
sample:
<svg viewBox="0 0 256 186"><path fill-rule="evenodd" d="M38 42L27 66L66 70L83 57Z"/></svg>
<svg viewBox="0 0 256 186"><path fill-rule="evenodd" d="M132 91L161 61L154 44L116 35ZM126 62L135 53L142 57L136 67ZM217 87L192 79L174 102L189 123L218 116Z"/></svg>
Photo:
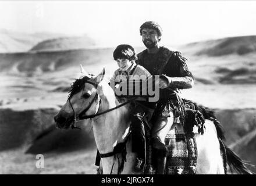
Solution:
<svg viewBox="0 0 256 186"><path fill-rule="evenodd" d="M112 60L112 49L77 49L55 52L0 53L0 72L25 73L55 71L80 64Z"/></svg>

